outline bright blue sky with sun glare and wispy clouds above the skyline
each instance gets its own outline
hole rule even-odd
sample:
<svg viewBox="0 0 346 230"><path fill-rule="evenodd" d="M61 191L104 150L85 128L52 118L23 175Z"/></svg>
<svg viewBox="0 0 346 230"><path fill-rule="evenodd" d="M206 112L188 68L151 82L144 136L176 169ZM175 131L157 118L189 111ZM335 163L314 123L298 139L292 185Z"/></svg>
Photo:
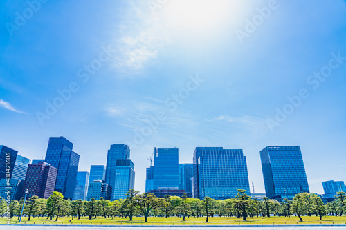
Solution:
<svg viewBox="0 0 346 230"><path fill-rule="evenodd" d="M154 147L176 146L181 163L196 146L242 148L264 192L260 151L300 145L312 192L346 180L345 1L31 0L0 12L0 144L21 155L42 158L63 135L89 171L129 144L144 191Z"/></svg>

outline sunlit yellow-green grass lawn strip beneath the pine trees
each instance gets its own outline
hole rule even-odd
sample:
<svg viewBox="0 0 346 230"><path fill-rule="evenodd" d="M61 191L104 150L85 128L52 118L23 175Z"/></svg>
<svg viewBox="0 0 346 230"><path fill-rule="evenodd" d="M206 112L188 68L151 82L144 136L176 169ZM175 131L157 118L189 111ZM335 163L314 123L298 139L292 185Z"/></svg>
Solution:
<svg viewBox="0 0 346 230"><path fill-rule="evenodd" d="M243 225L243 224L259 224L259 225L265 225L265 224L346 224L346 216L337 216L337 217L325 217L322 218L322 222L320 222L319 218L316 216L304 216L302 217L304 222L299 222L298 217L291 217L291 218L285 218L285 217L271 217L271 218L248 218L247 221L243 221L242 218L223 218L223 217L213 217L209 218L209 223L206 223L206 218L185 218L185 221L183 221L183 218L177 218L177 217L170 217L170 218L148 218L148 222L144 222L144 218L141 217L134 217L133 221L129 221L129 218L114 218L113 220L111 218L92 218L89 220L87 217L82 217L80 220L78 218L75 218L75 220L71 220L71 217L69 218L59 218L57 222L55 222L55 218L53 218L52 221L47 220L46 218L31 218L30 222L26 221L28 220L27 217L21 218L22 224L103 224L103 225L116 225L116 224L122 224L122 225L128 225L128 224L134 224L134 225ZM0 224L5 224L6 218L0 218ZM18 222L17 217L12 218L11 224L16 224Z"/></svg>

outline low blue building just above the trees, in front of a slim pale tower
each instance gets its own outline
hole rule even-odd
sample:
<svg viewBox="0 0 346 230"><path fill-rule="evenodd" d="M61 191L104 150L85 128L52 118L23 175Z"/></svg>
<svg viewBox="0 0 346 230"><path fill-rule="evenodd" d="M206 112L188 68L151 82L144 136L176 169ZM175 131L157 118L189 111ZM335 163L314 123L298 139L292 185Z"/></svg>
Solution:
<svg viewBox="0 0 346 230"><path fill-rule="evenodd" d="M91 198L95 198L95 200L100 200L100 198L111 200L111 186L103 180L94 180L89 183L86 200L90 201Z"/></svg>

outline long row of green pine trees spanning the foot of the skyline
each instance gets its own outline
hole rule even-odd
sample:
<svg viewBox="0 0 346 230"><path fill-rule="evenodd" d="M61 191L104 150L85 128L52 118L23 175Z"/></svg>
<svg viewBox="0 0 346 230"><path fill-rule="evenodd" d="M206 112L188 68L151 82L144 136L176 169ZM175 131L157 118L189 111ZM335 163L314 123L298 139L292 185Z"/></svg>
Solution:
<svg viewBox="0 0 346 230"><path fill-rule="evenodd" d="M109 201L104 198L90 201L84 200L64 200L62 193L54 191L48 199L33 196L26 200L24 204L24 215L30 218L44 217L49 220L59 217L69 216L80 219L82 216L91 218L122 218L142 216L147 222L149 216L179 216L183 218L206 217L208 222L210 217L215 215L224 217L237 217L246 220L248 217L271 217L292 215L298 216L300 221L304 215L316 215L322 220L326 215L343 215L346 212L346 193L338 192L335 200L323 204L321 198L313 193L299 193L293 200L284 199L283 202L271 200L264 197L262 200L251 198L245 190L238 190L237 197L227 200L214 200L206 197L203 200L197 198L187 198L186 194L182 198L165 195L164 198L157 198L152 193L140 194L139 191L131 189L126 194L126 199ZM10 202L10 218L21 213L24 198L12 200ZM6 213L7 206L5 200L0 200L1 215Z"/></svg>

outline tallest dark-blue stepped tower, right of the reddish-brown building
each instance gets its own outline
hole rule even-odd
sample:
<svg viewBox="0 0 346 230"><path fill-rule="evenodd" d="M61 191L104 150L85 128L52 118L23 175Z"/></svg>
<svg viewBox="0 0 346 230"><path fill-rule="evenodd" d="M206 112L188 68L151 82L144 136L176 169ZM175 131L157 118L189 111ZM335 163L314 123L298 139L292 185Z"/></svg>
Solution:
<svg viewBox="0 0 346 230"><path fill-rule="evenodd" d="M55 191L64 199L73 199L80 155L72 151L73 144L64 137L49 138L44 162L57 168Z"/></svg>

